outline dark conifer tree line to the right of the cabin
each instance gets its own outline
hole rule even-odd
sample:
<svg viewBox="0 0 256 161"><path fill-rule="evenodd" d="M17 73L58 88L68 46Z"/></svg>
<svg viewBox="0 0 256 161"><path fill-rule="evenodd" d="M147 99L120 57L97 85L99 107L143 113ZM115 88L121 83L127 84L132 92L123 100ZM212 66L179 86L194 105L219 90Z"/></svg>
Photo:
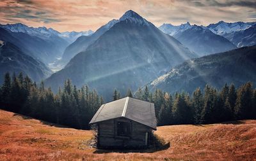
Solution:
<svg viewBox="0 0 256 161"><path fill-rule="evenodd" d="M130 94L128 90L127 95ZM130 96L131 97L131 96ZM160 89L149 92L138 89L134 97L154 102L157 125L218 123L232 120L256 119L256 89L251 82L237 88L224 85L221 90L206 85L193 94L168 94Z"/></svg>

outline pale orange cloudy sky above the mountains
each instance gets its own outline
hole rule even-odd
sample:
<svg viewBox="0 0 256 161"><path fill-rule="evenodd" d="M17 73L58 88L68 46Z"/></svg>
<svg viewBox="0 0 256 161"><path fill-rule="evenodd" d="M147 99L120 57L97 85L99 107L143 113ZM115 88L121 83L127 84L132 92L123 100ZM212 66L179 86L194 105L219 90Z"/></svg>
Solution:
<svg viewBox="0 0 256 161"><path fill-rule="evenodd" d="M57 31L97 30L127 10L154 25L209 25L256 21L255 0L1 0L0 24L22 23Z"/></svg>

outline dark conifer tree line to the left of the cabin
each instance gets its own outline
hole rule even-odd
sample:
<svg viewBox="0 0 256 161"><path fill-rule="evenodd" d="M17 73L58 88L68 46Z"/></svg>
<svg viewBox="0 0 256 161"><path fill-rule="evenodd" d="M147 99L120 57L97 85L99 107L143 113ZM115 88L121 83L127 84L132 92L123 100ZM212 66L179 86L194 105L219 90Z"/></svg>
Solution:
<svg viewBox="0 0 256 161"><path fill-rule="evenodd" d="M76 129L88 129L101 104L103 99L96 90L90 90L87 85L78 89L70 80L53 94L43 81L37 85L22 73L18 76L6 73L0 88L2 109Z"/></svg>

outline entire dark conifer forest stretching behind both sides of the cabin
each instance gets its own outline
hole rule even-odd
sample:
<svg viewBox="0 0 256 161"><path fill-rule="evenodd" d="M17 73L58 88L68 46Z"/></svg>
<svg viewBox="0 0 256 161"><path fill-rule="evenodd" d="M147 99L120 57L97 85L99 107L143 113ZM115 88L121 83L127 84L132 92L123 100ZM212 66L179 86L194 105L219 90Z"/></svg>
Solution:
<svg viewBox="0 0 256 161"><path fill-rule="evenodd" d="M156 89L150 92L139 88L133 95L113 90L113 101L122 97L135 97L154 102L157 125L219 123L232 120L256 119L256 89L251 82L236 88L234 84L223 85L220 90L206 85L187 92L167 93ZM63 88L54 94L22 73L6 73L0 87L0 108L46 122L57 123L76 129L90 129L88 123L104 100L96 90L87 85L77 88L66 80Z"/></svg>

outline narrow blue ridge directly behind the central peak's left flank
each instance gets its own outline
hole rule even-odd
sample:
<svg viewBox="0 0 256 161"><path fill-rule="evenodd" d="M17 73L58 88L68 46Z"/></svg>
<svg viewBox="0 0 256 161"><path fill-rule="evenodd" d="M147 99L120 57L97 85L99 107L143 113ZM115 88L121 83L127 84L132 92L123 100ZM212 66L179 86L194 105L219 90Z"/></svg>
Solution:
<svg viewBox="0 0 256 161"><path fill-rule="evenodd" d="M104 34L104 32L108 31L108 29L115 25L116 22L118 22L118 20L111 20L108 22L108 24L103 25L90 36L80 36L79 38L77 38L74 43L68 45L65 49L60 64L67 64L69 60L72 59L72 57L77 55L77 53L86 50L89 45L96 41L102 34Z"/></svg>

